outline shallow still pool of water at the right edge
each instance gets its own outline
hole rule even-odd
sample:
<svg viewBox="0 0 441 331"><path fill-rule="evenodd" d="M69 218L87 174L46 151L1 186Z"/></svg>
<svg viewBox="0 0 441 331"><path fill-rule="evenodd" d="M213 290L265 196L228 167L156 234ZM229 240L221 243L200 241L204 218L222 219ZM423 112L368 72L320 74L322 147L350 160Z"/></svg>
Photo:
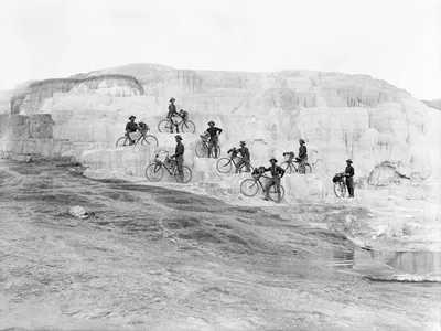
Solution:
<svg viewBox="0 0 441 331"><path fill-rule="evenodd" d="M373 280L441 281L441 252L334 252L330 265Z"/></svg>

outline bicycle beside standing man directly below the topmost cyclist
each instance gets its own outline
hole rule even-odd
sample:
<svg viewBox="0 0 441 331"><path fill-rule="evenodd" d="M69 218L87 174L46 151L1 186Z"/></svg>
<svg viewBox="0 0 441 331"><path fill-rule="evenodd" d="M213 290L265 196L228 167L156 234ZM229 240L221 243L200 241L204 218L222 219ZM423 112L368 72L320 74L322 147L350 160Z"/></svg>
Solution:
<svg viewBox="0 0 441 331"><path fill-rule="evenodd" d="M161 156L162 153L162 156ZM180 182L180 173L178 172L178 164L175 160L170 159L169 153L160 151L155 154L154 162L146 168L146 178L151 182L159 182L164 175L164 169L170 175L173 175L176 182ZM192 179L192 170L183 166L183 183L190 182Z"/></svg>

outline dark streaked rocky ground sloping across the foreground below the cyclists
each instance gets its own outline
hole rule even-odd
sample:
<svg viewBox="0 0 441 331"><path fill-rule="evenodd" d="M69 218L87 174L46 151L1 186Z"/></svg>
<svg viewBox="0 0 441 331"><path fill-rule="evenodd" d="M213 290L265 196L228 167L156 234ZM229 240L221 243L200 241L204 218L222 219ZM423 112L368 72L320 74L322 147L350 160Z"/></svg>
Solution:
<svg viewBox="0 0 441 331"><path fill-rule="evenodd" d="M0 330L441 328L437 284L372 281L326 263L368 237L351 237L351 223L363 233L394 206L373 212L362 195L292 213L72 166L0 163ZM74 205L96 216L71 216Z"/></svg>

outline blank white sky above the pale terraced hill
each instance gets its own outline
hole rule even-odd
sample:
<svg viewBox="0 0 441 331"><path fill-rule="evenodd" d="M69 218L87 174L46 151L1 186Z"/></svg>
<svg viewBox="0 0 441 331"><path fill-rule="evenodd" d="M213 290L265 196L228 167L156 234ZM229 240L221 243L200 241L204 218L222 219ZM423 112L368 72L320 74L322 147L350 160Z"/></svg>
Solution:
<svg viewBox="0 0 441 331"><path fill-rule="evenodd" d="M441 98L441 0L0 0L0 89L129 63L366 74Z"/></svg>

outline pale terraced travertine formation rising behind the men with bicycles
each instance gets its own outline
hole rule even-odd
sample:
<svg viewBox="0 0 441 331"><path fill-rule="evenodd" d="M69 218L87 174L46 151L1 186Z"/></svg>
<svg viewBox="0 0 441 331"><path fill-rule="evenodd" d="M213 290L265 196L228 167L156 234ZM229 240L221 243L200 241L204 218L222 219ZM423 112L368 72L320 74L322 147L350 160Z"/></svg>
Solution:
<svg viewBox="0 0 441 331"><path fill-rule="evenodd" d="M314 173L341 172L351 158L358 179L384 183L389 173L391 179L426 179L438 173L441 164L441 111L366 75L209 72L132 64L78 74L63 84L56 90L46 83L32 83L24 92L32 107L22 104L20 111L51 115L54 138L74 142L77 148L72 153L79 158L87 149L115 153L115 141L130 115L147 122L161 147L172 150L173 137L157 132L157 125L173 96L178 108L185 108L196 125L195 135L184 134L185 162L201 172L213 171L212 163L193 153L209 120L224 129L223 154L246 140L257 166L267 163L269 157L281 161L283 151L297 152L299 138L306 141Z"/></svg>

